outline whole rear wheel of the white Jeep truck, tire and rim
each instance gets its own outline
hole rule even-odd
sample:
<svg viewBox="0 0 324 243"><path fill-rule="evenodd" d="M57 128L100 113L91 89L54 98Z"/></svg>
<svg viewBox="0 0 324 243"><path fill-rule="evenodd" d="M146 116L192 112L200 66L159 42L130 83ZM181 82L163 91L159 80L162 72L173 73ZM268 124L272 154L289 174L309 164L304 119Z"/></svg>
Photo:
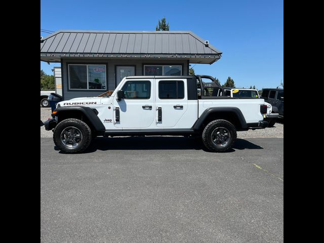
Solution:
<svg viewBox="0 0 324 243"><path fill-rule="evenodd" d="M230 149L236 140L236 129L227 120L217 119L211 121L204 129L204 145L213 152L222 152Z"/></svg>

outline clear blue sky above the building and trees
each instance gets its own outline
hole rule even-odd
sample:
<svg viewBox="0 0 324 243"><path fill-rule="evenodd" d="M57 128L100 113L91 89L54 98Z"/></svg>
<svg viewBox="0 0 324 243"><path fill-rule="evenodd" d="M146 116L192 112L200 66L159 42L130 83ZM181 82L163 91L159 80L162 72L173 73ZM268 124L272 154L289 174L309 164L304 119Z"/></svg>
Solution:
<svg viewBox="0 0 324 243"><path fill-rule="evenodd" d="M41 0L41 28L52 31L155 30L163 17L170 30L190 30L223 52L212 65L192 64L196 74L217 77L221 84L230 76L245 88L284 81L283 0ZM48 74L54 66L60 64L41 62Z"/></svg>

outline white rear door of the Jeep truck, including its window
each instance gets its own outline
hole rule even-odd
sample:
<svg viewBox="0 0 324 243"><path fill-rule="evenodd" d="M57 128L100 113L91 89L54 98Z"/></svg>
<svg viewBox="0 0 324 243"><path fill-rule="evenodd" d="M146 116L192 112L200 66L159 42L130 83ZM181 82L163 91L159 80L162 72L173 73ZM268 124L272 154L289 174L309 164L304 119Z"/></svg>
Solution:
<svg viewBox="0 0 324 243"><path fill-rule="evenodd" d="M197 119L197 101L188 106L187 79L156 78L155 87L156 127L191 128Z"/></svg>

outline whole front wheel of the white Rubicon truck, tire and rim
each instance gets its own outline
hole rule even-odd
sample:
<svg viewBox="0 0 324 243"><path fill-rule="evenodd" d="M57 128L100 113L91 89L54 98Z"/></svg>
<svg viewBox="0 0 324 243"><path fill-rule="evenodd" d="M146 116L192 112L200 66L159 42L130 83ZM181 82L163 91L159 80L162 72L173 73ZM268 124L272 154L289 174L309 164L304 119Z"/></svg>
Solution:
<svg viewBox="0 0 324 243"><path fill-rule="evenodd" d="M62 120L53 131L57 148L67 153L79 153L88 148L92 132L84 121L70 118Z"/></svg>

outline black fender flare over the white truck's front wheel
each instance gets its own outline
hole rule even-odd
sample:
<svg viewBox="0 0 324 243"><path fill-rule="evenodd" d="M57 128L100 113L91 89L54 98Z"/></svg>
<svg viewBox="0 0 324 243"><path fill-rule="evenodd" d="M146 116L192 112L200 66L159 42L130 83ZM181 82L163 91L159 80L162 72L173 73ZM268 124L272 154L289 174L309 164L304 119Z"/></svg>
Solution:
<svg viewBox="0 0 324 243"><path fill-rule="evenodd" d="M105 131L105 126L102 124L101 120L95 113L95 111L87 106L66 106L66 107L58 107L54 111L56 111L55 116L60 116L63 112L69 111L78 111L84 114L88 120L90 121L91 125L95 128L96 131ZM53 111L53 112L54 112Z"/></svg>

